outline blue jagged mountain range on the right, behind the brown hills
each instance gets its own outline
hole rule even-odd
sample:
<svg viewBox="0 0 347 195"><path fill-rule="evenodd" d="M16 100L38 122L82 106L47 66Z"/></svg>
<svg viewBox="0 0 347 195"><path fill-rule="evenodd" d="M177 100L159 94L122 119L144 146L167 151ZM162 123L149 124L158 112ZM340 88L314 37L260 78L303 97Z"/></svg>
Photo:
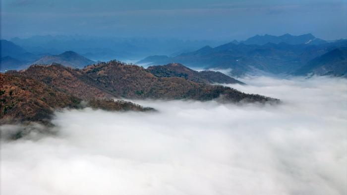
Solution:
<svg viewBox="0 0 347 195"><path fill-rule="evenodd" d="M347 40L328 43L315 38L311 34L302 36L286 34L279 37L265 35L255 36L237 44L231 42L215 48L205 46L196 51L182 53L174 57L149 56L138 61L138 63L149 65L183 63L189 67L231 69L231 74L238 76L256 71L272 74L295 74L295 71L301 67L312 63L311 60L331 50L346 46ZM340 60L340 62L334 63L345 65L343 58ZM331 68L334 69L335 66ZM338 71L339 68L336 68L336 71ZM334 71L330 72L333 73ZM320 74L321 72L316 71L315 73Z"/></svg>

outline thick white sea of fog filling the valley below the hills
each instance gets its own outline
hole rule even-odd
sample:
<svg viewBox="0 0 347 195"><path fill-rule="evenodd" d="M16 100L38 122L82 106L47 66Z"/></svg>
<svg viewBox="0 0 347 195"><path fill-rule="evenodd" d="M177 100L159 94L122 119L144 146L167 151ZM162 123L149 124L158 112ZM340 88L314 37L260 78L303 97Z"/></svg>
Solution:
<svg viewBox="0 0 347 195"><path fill-rule="evenodd" d="M346 194L347 80L242 81L283 103L58 112L56 136L1 141L1 195Z"/></svg>

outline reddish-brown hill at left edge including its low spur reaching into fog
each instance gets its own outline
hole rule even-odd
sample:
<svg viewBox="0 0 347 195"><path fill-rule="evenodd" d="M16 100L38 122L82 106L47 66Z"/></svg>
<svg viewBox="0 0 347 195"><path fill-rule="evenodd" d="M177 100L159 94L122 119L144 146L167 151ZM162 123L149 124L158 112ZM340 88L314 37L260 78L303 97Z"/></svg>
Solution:
<svg viewBox="0 0 347 195"><path fill-rule="evenodd" d="M129 101L113 99L89 99L82 103L83 99L76 98L73 94L19 74L0 73L0 83L0 124L28 121L51 125L50 119L54 111L64 107L117 111L154 110Z"/></svg>

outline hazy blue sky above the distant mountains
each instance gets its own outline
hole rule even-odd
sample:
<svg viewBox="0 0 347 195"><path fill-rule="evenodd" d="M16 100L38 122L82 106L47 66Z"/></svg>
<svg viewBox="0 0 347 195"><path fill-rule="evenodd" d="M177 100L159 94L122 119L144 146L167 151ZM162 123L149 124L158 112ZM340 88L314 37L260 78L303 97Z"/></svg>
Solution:
<svg viewBox="0 0 347 195"><path fill-rule="evenodd" d="M1 37L347 37L347 0L1 0Z"/></svg>

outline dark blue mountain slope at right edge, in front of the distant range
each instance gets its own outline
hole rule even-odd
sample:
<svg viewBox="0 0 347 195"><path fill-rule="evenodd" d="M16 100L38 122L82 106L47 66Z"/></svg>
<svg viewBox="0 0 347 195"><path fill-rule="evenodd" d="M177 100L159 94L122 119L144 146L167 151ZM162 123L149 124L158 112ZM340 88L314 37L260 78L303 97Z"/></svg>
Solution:
<svg viewBox="0 0 347 195"><path fill-rule="evenodd" d="M347 47L331 50L295 71L296 75L347 75Z"/></svg>

